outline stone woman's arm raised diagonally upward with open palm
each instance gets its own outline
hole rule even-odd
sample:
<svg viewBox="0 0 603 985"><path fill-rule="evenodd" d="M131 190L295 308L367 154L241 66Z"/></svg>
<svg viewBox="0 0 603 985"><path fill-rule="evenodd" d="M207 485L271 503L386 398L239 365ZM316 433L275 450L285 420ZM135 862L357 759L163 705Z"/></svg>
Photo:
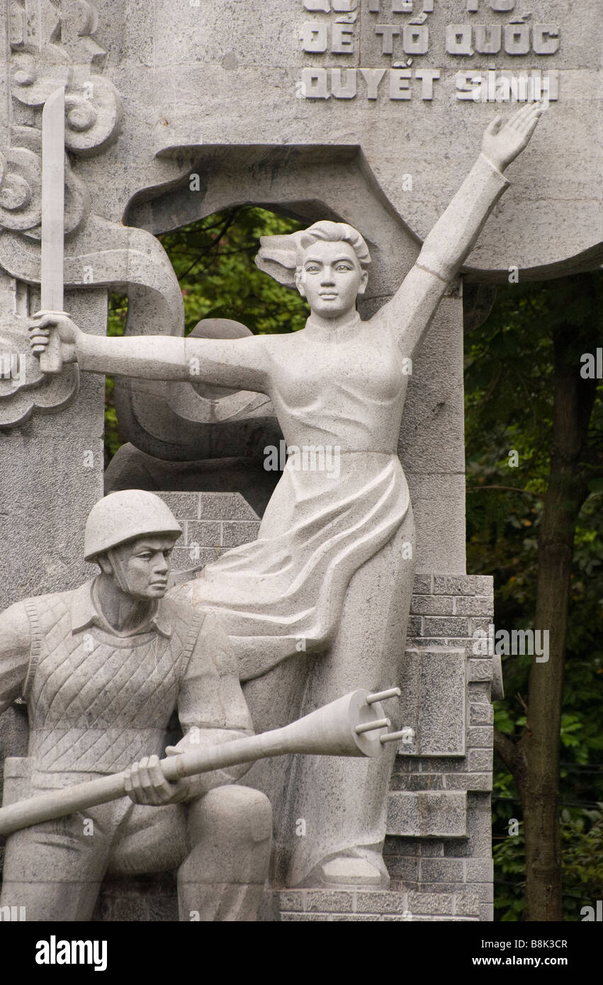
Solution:
<svg viewBox="0 0 603 985"><path fill-rule="evenodd" d="M526 147L542 111L538 103L529 103L505 123L502 116L492 121L476 164L427 236L401 288L379 311L405 356L420 349L437 304L508 186L504 168Z"/></svg>

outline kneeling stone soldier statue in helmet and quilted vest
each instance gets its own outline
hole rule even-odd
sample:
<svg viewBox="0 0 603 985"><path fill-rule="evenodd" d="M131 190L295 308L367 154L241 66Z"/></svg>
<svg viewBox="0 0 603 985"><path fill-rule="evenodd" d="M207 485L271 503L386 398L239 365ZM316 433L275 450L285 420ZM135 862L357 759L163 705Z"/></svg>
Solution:
<svg viewBox="0 0 603 985"><path fill-rule="evenodd" d="M248 766L168 783L159 765L176 707L184 738L167 755L252 734L216 617L165 598L180 533L159 496L112 493L86 527L100 574L0 616L0 712L24 694L30 719L27 758L6 760L5 805L122 769L130 797L9 835L0 905L27 920L90 920L105 873L178 866L180 920L256 918L272 815L233 785Z"/></svg>

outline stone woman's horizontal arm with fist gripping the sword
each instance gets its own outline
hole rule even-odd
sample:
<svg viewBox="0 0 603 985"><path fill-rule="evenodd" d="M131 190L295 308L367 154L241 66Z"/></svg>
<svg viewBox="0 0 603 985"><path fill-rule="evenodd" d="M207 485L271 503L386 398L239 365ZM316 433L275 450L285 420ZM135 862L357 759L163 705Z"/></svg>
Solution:
<svg viewBox="0 0 603 985"><path fill-rule="evenodd" d="M34 353L43 352L58 331L63 362L78 362L89 372L142 379L188 380L234 389L268 386L268 360L261 336L243 339L180 339L166 335L104 338L88 335L63 312L40 311L30 327Z"/></svg>

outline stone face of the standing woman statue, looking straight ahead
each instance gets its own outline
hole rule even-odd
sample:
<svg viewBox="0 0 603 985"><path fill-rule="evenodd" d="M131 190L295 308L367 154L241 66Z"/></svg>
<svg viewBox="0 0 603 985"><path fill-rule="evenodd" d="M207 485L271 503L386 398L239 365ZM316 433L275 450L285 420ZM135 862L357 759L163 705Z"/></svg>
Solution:
<svg viewBox="0 0 603 985"><path fill-rule="evenodd" d="M354 308L368 278L350 243L318 239L303 251L296 284L315 314L336 318Z"/></svg>

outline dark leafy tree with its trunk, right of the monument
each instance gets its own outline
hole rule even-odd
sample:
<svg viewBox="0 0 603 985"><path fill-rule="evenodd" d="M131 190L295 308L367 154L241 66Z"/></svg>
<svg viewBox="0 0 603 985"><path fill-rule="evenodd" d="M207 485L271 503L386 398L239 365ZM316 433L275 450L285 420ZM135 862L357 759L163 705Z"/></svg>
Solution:
<svg viewBox="0 0 603 985"><path fill-rule="evenodd" d="M603 799L603 404L580 358L601 339L602 291L601 274L509 285L467 339L469 570L495 574L499 627L550 634L548 663L503 663L495 857L512 884L503 919L562 919L562 898L574 912L570 846L598 837L587 812ZM513 837L517 801L523 834ZM598 898L600 873L601 864L579 883L586 902Z"/></svg>

